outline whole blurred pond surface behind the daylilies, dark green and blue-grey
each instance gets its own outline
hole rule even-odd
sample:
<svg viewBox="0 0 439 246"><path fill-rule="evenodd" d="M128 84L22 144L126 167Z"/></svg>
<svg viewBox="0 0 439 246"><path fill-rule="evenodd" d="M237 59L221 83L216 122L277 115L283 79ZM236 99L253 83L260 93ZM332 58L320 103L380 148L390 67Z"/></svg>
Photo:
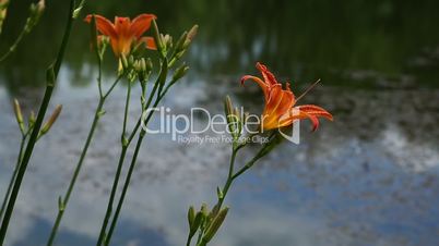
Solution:
<svg viewBox="0 0 439 246"><path fill-rule="evenodd" d="M1 53L24 25L29 3L12 1ZM37 110L67 8L68 1L48 0L41 22L0 65L1 197L20 145L11 101L19 98L26 113ZM90 0L83 14L111 20L154 13L161 30L175 38L200 25L186 59L190 73L163 102L174 113L189 114L191 107L221 113L226 95L260 112L260 89L238 83L244 74L259 75L257 61L292 82L296 94L322 79L301 103L323 106L335 121L322 122L313 134L304 124L300 145L285 143L235 183L226 200L232 210L212 246L434 246L439 242L438 10L436 0ZM63 112L36 146L8 246L47 242L98 98L88 34L78 21L50 107L62 103ZM115 77L114 60L108 52L107 84ZM135 95L131 121L139 115ZM57 245L96 242L120 152L123 98L120 85L105 107ZM150 135L112 245L183 245L187 208L215 201L228 158L227 144L185 145L166 134Z"/></svg>

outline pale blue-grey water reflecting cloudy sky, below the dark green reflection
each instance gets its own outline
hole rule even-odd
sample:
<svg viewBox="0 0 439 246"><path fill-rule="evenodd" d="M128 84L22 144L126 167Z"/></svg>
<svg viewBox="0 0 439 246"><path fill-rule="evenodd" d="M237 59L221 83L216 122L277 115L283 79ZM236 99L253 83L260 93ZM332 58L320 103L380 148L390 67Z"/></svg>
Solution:
<svg viewBox="0 0 439 246"><path fill-rule="evenodd" d="M72 74L63 70L62 76ZM224 82L218 84L220 91L239 88L224 79L218 78ZM44 244L57 196L64 190L78 158L96 88L72 87L68 81L61 81L54 98L54 103L64 104L63 114L37 146L7 245ZM239 100L240 94L233 95ZM438 96L437 90L422 89L323 87L313 91L307 100L328 106L336 121L323 123L312 135L304 131L302 144L283 145L238 181L227 200L233 213L212 245L435 245L439 132L432 126L439 120L434 102ZM119 153L123 97L120 87L106 107L108 113L66 214L59 245L93 245L95 241ZM221 112L221 98L205 82L185 82L165 104L176 113L189 114L191 106ZM0 102L4 112L0 157L2 163L12 163L19 133L8 99L2 97ZM248 108L257 107L252 102ZM138 110L133 108L131 115ZM417 118L412 116L415 113ZM115 245L181 245L186 208L213 202L215 186L226 175L228 155L223 144L182 145L169 135L149 136ZM12 167L1 165L2 187L11 171Z"/></svg>

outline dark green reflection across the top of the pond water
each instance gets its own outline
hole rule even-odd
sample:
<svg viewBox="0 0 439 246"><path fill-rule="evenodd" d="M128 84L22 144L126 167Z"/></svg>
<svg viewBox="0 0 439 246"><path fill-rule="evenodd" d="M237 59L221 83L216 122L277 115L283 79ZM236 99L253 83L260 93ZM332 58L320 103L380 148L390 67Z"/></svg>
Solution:
<svg viewBox="0 0 439 246"><path fill-rule="evenodd" d="M28 2L12 1L1 50L22 27ZM48 1L40 25L1 64L10 90L44 81L44 69L60 41L64 4ZM189 58L199 74L254 73L254 62L264 61L278 74L300 82L322 77L328 84L367 87L384 81L398 87L438 84L438 9L436 0L139 0L87 1L84 13L110 17L151 12L158 16L162 30L176 36L199 23ZM92 59L88 28L80 21L67 63L78 74L76 82L84 81L80 71ZM107 70L114 66L110 63Z"/></svg>

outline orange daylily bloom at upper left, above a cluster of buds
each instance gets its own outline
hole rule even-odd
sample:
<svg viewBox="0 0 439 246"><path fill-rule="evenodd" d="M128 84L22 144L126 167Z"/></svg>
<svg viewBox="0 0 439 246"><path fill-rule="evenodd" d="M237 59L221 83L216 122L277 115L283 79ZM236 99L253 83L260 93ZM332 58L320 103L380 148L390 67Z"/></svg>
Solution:
<svg viewBox="0 0 439 246"><path fill-rule="evenodd" d="M117 57L129 54L131 46L139 42L144 42L147 49L156 49L153 37L142 37L150 29L151 22L157 19L154 14L140 14L132 22L129 17L116 16L115 23L97 14L94 16L97 30L110 38L112 51ZM84 21L90 23L92 17L93 15L88 14Z"/></svg>

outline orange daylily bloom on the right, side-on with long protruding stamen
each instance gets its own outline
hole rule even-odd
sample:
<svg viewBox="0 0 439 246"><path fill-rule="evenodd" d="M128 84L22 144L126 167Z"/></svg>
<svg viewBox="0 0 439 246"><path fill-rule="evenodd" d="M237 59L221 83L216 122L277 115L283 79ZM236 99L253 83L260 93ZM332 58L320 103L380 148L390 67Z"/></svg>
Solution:
<svg viewBox="0 0 439 246"><path fill-rule="evenodd" d="M277 83L275 76L266 69L265 65L257 63L257 69L262 73L262 78L246 75L241 78L241 84L247 79L252 79L262 88L265 98L265 107L262 113L262 128L274 130L293 124L296 120L309 119L312 123L312 132L319 127L319 119L325 118L333 120L332 114L327 110L313 106L304 104L295 106L296 98L289 89L289 84L286 88L282 88L282 84Z"/></svg>

